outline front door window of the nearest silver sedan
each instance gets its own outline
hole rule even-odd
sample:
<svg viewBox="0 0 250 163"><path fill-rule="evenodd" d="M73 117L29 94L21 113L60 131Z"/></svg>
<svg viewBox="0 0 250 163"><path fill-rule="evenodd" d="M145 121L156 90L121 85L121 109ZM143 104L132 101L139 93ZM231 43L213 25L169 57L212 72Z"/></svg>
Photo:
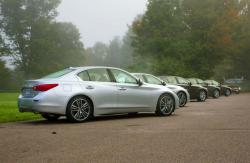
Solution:
<svg viewBox="0 0 250 163"><path fill-rule="evenodd" d="M133 78L131 75L123 71L111 69L111 72L113 73L117 83L137 84L137 81L135 78Z"/></svg>

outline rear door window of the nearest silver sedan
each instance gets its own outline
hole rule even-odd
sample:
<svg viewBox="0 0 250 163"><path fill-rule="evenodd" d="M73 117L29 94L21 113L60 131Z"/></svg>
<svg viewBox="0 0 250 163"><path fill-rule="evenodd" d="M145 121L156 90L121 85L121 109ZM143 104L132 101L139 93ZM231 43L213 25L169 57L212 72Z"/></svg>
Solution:
<svg viewBox="0 0 250 163"><path fill-rule="evenodd" d="M91 81L111 82L107 69L97 68L88 70Z"/></svg>

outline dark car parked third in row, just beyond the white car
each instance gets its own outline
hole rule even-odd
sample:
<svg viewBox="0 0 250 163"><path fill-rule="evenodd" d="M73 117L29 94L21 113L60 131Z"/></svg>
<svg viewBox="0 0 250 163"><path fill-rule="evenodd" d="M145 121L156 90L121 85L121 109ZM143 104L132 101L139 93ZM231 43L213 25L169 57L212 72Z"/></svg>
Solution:
<svg viewBox="0 0 250 163"><path fill-rule="evenodd" d="M174 84L185 88L189 94L190 99L197 99L198 101L206 101L208 97L207 88L201 85L193 85L188 80L178 76L160 76L160 78L169 84Z"/></svg>

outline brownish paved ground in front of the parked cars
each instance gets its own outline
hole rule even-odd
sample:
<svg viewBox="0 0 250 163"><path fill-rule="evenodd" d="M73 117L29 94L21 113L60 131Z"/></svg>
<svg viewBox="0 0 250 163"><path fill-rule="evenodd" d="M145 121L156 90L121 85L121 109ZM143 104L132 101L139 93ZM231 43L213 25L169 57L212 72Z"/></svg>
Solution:
<svg viewBox="0 0 250 163"><path fill-rule="evenodd" d="M250 162L250 94L152 114L0 125L0 162Z"/></svg>

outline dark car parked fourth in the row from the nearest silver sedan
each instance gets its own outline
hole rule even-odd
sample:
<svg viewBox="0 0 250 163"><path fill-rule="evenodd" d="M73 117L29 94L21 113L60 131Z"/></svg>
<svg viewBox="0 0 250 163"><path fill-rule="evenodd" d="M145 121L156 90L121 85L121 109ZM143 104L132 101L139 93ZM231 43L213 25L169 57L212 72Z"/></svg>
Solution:
<svg viewBox="0 0 250 163"><path fill-rule="evenodd" d="M192 83L192 85L200 85L203 87L206 87L208 89L208 96L213 98L219 98L220 97L220 87L210 85L205 83L203 80L198 78L189 78L188 81Z"/></svg>

